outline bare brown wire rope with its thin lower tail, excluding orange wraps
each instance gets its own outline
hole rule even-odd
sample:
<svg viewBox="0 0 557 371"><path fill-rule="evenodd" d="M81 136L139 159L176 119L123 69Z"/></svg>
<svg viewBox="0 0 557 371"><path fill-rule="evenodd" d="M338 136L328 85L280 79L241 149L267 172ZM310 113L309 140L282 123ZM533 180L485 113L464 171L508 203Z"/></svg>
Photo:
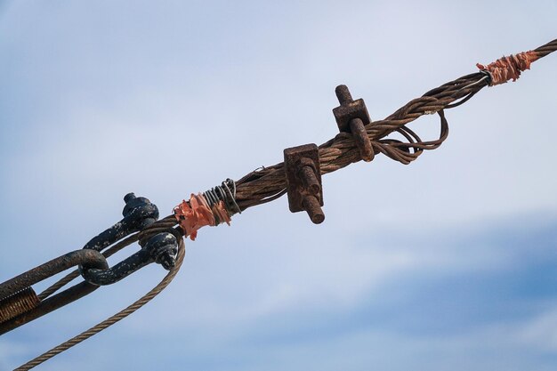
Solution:
<svg viewBox="0 0 557 371"><path fill-rule="evenodd" d="M557 50L557 39L544 44L533 50L537 54L537 59L545 57L551 52ZM486 86L491 85L491 76L486 71L480 71L459 77L454 81L440 85L437 88L424 93L420 98L409 101L406 105L396 110L392 115L383 120L375 121L366 126L366 132L371 141L372 149L375 154L383 153L383 155L392 158L404 165L410 164L416 160L424 150L437 149L441 143L448 137L448 122L445 118L445 109L452 109L465 101L471 99L476 93L480 92ZM422 139L410 128L408 124L416 120L416 118L424 115L438 114L440 117L440 136L436 140L422 141ZM405 141L388 138L392 133L398 133ZM358 162L361 159L359 150L356 148L351 133L339 133L335 138L321 144L319 146L319 163L321 174L332 173L336 170ZM227 180L229 181L229 180ZM236 198L233 199L234 209L229 209L230 216L232 214L241 213L251 206L262 205L274 199L283 196L287 190L286 177L284 172L284 163L262 167L254 172L247 173L246 176L239 181L232 181L230 185L236 186ZM209 191L209 199L214 190ZM216 194L215 194L216 195ZM136 241L142 243L157 234L158 232L168 231L177 224L174 214L154 222L145 230L136 233L128 238L119 241L117 244L109 247L103 254L109 257L111 254L117 253L125 246ZM183 234L183 230L179 227L174 230ZM184 242L179 238L179 250L176 264L172 270L163 278L163 280L143 295L139 300L133 302L123 311L111 316L109 319L102 321L100 324L89 328L80 335L77 335L65 343L61 343L50 351L32 359L26 364L16 368L14 371L25 371L32 367L43 363L47 359L51 359L55 355L66 351L77 343L83 342L85 339L101 332L103 329L115 324L117 321L124 319L128 315L137 311L141 306L153 299L157 294L165 289L173 280L175 275L182 266L185 254ZM58 282L45 289L39 298L43 300L49 295L59 290L62 286L67 285L71 280L79 275L77 270L70 272L66 277L61 278Z"/></svg>

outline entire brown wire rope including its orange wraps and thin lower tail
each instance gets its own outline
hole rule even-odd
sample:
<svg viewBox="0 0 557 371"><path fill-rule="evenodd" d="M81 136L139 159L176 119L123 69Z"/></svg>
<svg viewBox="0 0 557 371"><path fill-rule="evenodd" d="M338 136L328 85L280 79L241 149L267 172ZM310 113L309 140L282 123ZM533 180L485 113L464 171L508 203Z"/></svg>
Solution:
<svg viewBox="0 0 557 371"><path fill-rule="evenodd" d="M431 91L424 93L420 98L409 101L405 106L401 107L389 117L383 120L375 121L366 126L367 137L371 141L374 154L383 153L385 156L408 165L416 160L424 150L437 149L443 141L448 137L448 122L445 118L445 109L453 109L468 101L476 93L480 92L486 86L502 84L509 79L516 80L520 76L521 71L529 69L529 65L534 60L545 57L551 52L557 50L557 39L550 43L542 45L534 51L523 52L510 57L504 57L489 64L487 67L478 65L481 69L464 77L457 78L447 84L440 85ZM505 81L503 81L505 80ZM422 139L410 128L408 124L424 115L437 113L440 117L440 136L433 141L422 141ZM387 138L391 134L399 134L402 141ZM335 138L323 143L319 146L319 163L321 174L332 173L336 170L358 162L361 159L359 150L356 148L351 133L339 133ZM241 213L246 208L256 205L262 205L274 199L283 196L286 190L286 177L284 172L284 164L280 163L269 167L262 167L254 172L246 174L239 181L231 181L230 179L222 182L222 186L206 191L203 195L192 195L190 202L183 201L181 206L174 209L174 214L166 216L153 224L149 225L145 230L123 239L114 246L111 246L105 253L106 257L115 254L125 246L139 240L141 246L158 232L172 231L179 240L178 256L176 264L172 270L163 278L163 280L125 310L119 311L114 316L102 321L100 324L91 327L80 335L75 336L65 343L52 348L36 359L33 359L16 368L14 371L28 370L35 367L47 359L51 359L55 355L66 351L77 343L83 342L85 339L101 332L103 329L115 324L117 321L124 319L128 315L137 311L141 306L153 299L172 281L182 266L185 247L182 235L190 235L195 238L197 226L189 225L186 214L195 214L198 206L192 208L191 200L201 202L207 211L206 218L211 219L217 216L218 222L228 222L230 216ZM194 203L195 203L194 202ZM190 208L190 209L188 209ZM176 212L178 209L178 212ZM211 213L211 214L208 214ZM224 213L224 214L221 214ZM225 215L226 214L226 215ZM213 220L204 225L218 224L217 220ZM196 222L196 221L190 221ZM179 227L174 228L176 224ZM178 236L179 235L179 236ZM49 295L59 290L62 286L68 284L72 279L77 278L77 270L72 271L66 277L61 278L54 285L48 287L38 297L43 300Z"/></svg>

